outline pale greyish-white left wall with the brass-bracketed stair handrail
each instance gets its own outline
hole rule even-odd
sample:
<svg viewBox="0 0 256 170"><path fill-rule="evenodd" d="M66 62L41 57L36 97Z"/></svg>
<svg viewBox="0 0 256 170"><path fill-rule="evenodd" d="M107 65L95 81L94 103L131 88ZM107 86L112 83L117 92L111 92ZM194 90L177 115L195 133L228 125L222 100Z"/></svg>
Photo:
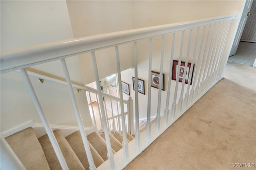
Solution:
<svg viewBox="0 0 256 170"><path fill-rule="evenodd" d="M72 38L65 1L1 1L1 51ZM78 57L67 59L67 64L71 79L83 82ZM60 61L34 68L64 77ZM77 125L66 86L37 78L31 81L50 123ZM84 124L92 125L85 95L75 95ZM30 119L41 122L21 74L1 74L1 131Z"/></svg>

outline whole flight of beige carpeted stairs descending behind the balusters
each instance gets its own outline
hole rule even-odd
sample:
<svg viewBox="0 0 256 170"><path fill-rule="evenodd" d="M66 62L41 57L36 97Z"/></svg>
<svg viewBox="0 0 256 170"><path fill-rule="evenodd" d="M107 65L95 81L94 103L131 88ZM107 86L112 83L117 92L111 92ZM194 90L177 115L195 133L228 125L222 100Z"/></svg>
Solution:
<svg viewBox="0 0 256 170"><path fill-rule="evenodd" d="M69 169L82 170L89 169L86 152L84 150L80 131L76 131L67 137L64 137L59 129L53 131L54 136L60 146L60 150L68 164ZM132 135L127 134L128 142L134 139ZM115 154L122 149L122 134L109 133L112 152ZM29 127L5 138L10 147L14 150L26 169L40 170L61 170L60 163L54 152L48 135L37 139L34 129ZM107 148L104 133L93 132L87 135L90 150L96 167L100 166L106 160Z"/></svg>

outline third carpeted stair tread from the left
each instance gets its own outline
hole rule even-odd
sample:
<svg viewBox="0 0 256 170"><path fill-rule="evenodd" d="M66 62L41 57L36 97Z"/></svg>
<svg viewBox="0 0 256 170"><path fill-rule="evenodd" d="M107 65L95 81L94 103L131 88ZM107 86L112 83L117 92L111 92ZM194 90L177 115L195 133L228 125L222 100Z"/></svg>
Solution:
<svg viewBox="0 0 256 170"><path fill-rule="evenodd" d="M70 144L70 146L72 147L72 149L74 150L74 152L76 153L76 156L78 157L78 159L80 160L80 162L82 163L82 165L84 166L84 168L86 170L89 169L89 162L87 160L87 156L86 156L86 152L84 149L84 144L82 141L82 137L80 134L80 131L76 131L70 135L68 135L66 137L68 143ZM102 157L100 156L100 154L98 154L98 152L94 149L94 147L89 143L89 147L92 153L92 158L94 160L94 164L96 167L100 166L101 164L104 163L104 160L102 159Z"/></svg>

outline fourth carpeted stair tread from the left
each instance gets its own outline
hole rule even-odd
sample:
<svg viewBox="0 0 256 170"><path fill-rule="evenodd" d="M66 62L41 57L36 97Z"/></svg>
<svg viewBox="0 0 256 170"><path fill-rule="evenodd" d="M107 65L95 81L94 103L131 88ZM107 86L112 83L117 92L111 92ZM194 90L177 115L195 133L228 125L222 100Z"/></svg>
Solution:
<svg viewBox="0 0 256 170"><path fill-rule="evenodd" d="M87 136L88 141L92 144L94 149L100 154L104 161L108 160L108 150L106 147L106 141L96 132L92 132ZM113 154L116 152L112 149Z"/></svg>

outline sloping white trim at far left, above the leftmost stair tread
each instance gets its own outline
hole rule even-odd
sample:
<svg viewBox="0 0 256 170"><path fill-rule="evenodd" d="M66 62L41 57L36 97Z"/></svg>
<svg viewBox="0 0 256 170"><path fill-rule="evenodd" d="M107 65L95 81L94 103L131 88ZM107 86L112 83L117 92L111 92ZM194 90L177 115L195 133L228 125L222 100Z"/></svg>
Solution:
<svg viewBox="0 0 256 170"><path fill-rule="evenodd" d="M21 123L20 125L14 126L10 129L7 129L6 131L1 132L1 136L6 138L14 133L17 133L19 131L22 131L23 129L26 129L28 127L34 127L35 123L32 120L26 121L24 123Z"/></svg>

